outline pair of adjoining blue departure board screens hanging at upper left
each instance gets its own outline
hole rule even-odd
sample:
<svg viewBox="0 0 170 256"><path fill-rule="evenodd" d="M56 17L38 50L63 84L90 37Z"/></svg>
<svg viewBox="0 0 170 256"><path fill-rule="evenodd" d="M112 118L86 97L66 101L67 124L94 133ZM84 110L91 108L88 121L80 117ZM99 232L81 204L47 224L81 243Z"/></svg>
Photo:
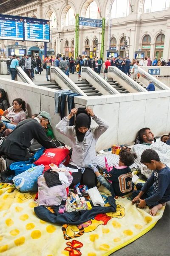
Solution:
<svg viewBox="0 0 170 256"><path fill-rule="evenodd" d="M0 39L49 42L49 20L0 14Z"/></svg>

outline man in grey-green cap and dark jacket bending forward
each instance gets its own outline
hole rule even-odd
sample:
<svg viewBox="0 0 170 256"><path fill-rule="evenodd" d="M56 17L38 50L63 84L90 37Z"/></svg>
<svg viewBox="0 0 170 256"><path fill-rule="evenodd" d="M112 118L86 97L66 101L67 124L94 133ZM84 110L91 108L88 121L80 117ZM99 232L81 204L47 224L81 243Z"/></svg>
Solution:
<svg viewBox="0 0 170 256"><path fill-rule="evenodd" d="M34 119L26 119L20 122L14 131L6 137L0 151L6 157L16 161L27 161L32 155L27 148L31 146L33 139L37 140L45 148L56 148L53 141L49 140L44 128L51 126L51 116L45 111L41 111Z"/></svg>

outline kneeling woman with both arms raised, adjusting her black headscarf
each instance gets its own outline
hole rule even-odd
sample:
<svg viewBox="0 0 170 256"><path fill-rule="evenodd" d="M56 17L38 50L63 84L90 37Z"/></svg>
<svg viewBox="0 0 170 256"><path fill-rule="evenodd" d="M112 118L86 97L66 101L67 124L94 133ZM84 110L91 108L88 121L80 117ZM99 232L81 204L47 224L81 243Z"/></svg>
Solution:
<svg viewBox="0 0 170 256"><path fill-rule="evenodd" d="M76 125L67 126L72 116L76 116ZM91 129L91 117L98 124L96 128ZM73 172L73 181L71 188L78 183L86 185L88 189L97 185L96 175L93 170L88 168L88 164L98 167L95 152L96 141L108 129L108 124L103 119L95 116L91 108L86 108L84 113L79 113L77 108L73 108L68 116L65 116L57 125L57 131L67 136L72 142L73 153L69 167L77 169ZM77 187L77 191L79 188Z"/></svg>

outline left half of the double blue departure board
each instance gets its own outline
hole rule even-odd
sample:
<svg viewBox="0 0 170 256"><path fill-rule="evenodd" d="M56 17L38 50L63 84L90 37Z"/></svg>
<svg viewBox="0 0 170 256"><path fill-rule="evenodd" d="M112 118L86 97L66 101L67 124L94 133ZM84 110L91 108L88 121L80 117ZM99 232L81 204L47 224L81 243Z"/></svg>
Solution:
<svg viewBox="0 0 170 256"><path fill-rule="evenodd" d="M23 18L0 15L0 39L24 40Z"/></svg>

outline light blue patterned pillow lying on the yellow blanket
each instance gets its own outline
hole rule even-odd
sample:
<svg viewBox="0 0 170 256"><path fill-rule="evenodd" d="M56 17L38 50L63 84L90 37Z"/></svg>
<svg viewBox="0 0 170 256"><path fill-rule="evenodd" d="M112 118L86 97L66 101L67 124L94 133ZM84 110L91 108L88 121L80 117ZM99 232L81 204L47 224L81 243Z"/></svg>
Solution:
<svg viewBox="0 0 170 256"><path fill-rule="evenodd" d="M37 192L38 177L42 175L44 166L35 166L13 178L16 189L20 192Z"/></svg>

